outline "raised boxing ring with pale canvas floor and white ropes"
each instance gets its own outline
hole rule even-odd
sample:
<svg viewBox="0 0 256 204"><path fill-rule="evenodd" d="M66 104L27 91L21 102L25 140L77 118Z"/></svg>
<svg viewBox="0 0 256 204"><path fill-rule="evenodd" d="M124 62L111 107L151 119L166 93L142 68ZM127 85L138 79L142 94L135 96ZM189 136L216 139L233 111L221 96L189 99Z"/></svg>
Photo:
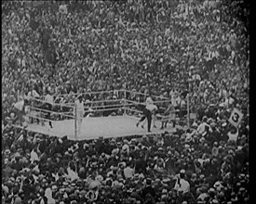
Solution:
<svg viewBox="0 0 256 204"><path fill-rule="evenodd" d="M71 140L89 140L97 139L101 136L103 138L110 138L129 135L162 134L164 132L173 133L177 127L182 128L179 124L175 128L168 124L167 128L160 129L162 118L159 114L155 121L156 128L152 124L151 133L147 132L147 122L143 128L141 126L137 127L136 123L141 118L140 106L143 103L134 98L144 97L145 99L146 96L141 93L119 90L104 93L90 92L83 93L82 95L94 96L94 100L86 100L84 103L86 111L79 135L77 134L76 118L74 115L74 97L77 95L73 95L73 99L69 103L54 103L52 110L36 108L34 103L44 103L44 97L40 99L33 98L34 103L30 105L30 111L25 116L26 130L58 137L67 136ZM102 95L105 95L107 99L98 99ZM62 97L65 96L63 95ZM168 103L167 98L153 97L158 108L163 108L161 104ZM45 117L47 112L50 112L50 120ZM48 121L52 122L52 128L49 127ZM186 121L183 122L186 123Z"/></svg>

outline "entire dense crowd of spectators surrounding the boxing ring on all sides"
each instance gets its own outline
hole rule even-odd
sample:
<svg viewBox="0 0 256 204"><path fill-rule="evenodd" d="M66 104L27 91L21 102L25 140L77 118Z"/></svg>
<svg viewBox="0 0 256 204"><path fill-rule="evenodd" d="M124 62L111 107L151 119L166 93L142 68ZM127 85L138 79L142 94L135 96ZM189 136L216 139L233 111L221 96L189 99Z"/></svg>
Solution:
<svg viewBox="0 0 256 204"><path fill-rule="evenodd" d="M3 201L248 202L249 10L236 4L2 4ZM176 106L189 93L197 119L175 134L78 144L11 125L21 97L120 89ZM237 130L233 108L244 114Z"/></svg>

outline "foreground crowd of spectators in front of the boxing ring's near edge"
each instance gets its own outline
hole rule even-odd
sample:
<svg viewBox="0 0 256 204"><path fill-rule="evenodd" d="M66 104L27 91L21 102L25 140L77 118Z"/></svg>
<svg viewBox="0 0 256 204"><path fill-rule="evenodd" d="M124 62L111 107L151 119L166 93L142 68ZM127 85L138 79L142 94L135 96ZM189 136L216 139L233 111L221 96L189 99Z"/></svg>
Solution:
<svg viewBox="0 0 256 204"><path fill-rule="evenodd" d="M249 203L249 129L213 119L175 133L3 138L3 203ZM205 128L201 133L202 124ZM200 127L200 128L199 128Z"/></svg>

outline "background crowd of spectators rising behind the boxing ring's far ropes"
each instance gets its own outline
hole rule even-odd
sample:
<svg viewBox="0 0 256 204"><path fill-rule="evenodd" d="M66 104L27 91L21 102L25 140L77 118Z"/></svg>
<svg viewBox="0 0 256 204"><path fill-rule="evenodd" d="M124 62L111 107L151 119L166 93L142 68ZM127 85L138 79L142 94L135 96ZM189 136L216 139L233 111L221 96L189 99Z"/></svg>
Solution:
<svg viewBox="0 0 256 204"><path fill-rule="evenodd" d="M23 4L2 19L6 95L150 87L169 96L188 82L201 102L222 91L248 94L246 26L218 1Z"/></svg>

